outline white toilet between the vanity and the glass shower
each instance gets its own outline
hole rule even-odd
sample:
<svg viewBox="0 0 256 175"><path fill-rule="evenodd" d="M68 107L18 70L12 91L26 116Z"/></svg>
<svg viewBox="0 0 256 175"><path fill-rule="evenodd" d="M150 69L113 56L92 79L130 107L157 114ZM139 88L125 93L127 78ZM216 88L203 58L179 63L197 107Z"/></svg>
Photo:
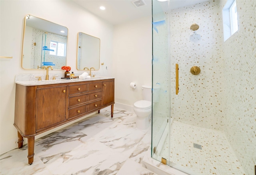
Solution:
<svg viewBox="0 0 256 175"><path fill-rule="evenodd" d="M140 130L146 130L151 122L152 114L152 87L142 85L142 98L134 103L134 112L136 117L136 127Z"/></svg>

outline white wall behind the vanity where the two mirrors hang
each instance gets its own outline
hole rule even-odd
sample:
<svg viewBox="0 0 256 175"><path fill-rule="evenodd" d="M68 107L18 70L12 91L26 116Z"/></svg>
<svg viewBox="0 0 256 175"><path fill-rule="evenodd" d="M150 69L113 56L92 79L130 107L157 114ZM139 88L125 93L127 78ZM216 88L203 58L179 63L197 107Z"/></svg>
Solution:
<svg viewBox="0 0 256 175"><path fill-rule="evenodd" d="M76 42L78 32L100 38L100 62L104 67L95 72L100 76L113 76L112 38L113 26L81 9L72 1L0 1L0 153L16 148L17 130L14 123L15 75L20 73L45 73L43 70L24 70L21 68L24 18L31 14L66 26L68 28L67 65L76 70ZM64 73L62 70L51 73Z"/></svg>

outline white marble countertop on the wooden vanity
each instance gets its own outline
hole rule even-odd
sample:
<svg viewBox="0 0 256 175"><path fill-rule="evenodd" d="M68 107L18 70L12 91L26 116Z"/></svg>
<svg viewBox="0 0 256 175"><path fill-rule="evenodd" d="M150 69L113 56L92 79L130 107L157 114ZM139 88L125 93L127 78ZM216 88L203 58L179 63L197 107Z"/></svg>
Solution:
<svg viewBox="0 0 256 175"><path fill-rule="evenodd" d="M50 85L58 83L72 83L72 82L82 82L82 81L94 81L94 80L105 80L114 79L114 77L92 77L90 79L56 79L56 80L15 80L16 84L24 86L37 86L37 85Z"/></svg>

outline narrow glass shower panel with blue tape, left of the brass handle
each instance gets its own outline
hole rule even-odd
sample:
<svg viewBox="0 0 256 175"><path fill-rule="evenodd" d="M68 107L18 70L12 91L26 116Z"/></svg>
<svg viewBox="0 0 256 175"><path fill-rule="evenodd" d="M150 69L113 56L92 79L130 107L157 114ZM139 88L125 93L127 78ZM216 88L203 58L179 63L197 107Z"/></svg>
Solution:
<svg viewBox="0 0 256 175"><path fill-rule="evenodd" d="M168 18L161 2L152 0L152 145L151 157L169 165L170 59ZM168 140L168 142L166 142ZM166 145L167 144L167 145ZM165 153L161 153L165 151Z"/></svg>

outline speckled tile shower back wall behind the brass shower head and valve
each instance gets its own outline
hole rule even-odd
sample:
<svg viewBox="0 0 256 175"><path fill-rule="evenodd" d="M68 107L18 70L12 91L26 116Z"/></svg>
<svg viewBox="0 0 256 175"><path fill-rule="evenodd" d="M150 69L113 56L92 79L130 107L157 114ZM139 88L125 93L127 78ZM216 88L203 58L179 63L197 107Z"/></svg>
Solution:
<svg viewBox="0 0 256 175"><path fill-rule="evenodd" d="M170 11L171 74L179 64L179 93L172 76L171 116L174 120L208 129L221 130L224 117L224 69L222 57L222 13L211 0ZM199 25L197 31L190 26ZM190 69L200 67L193 75Z"/></svg>

